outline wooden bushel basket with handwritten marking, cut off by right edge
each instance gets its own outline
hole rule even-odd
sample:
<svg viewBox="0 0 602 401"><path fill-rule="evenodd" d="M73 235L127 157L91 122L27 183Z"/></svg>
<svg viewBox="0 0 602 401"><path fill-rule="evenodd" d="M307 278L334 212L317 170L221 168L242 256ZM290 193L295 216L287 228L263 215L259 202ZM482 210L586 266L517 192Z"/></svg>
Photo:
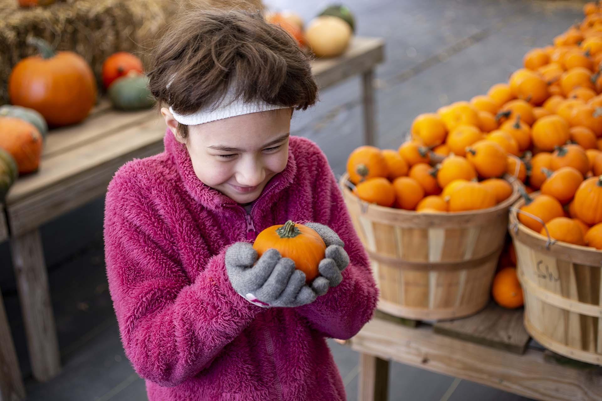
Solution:
<svg viewBox="0 0 602 401"><path fill-rule="evenodd" d="M519 224L510 210L529 334L557 354L602 365L602 251L554 242Z"/></svg>

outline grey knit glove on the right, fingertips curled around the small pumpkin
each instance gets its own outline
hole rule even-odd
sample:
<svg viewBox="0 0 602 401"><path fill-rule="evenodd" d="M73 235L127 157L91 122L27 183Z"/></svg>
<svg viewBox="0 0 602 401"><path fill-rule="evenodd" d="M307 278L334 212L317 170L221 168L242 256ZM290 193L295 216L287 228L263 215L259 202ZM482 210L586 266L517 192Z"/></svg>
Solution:
<svg viewBox="0 0 602 401"><path fill-rule="evenodd" d="M343 249L343 246L345 246L343 240L326 225L314 222L303 225L315 230L326 243L326 255L318 265L320 275L311 283L312 289L318 296L324 295L329 287L336 287L343 281L341 273L349 265L349 255Z"/></svg>

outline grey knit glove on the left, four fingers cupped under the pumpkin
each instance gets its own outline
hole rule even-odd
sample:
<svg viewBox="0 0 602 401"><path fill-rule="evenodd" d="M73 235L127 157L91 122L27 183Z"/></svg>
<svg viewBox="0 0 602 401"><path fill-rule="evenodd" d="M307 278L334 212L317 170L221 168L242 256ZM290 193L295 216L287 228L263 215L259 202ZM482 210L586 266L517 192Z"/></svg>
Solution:
<svg viewBox="0 0 602 401"><path fill-rule="evenodd" d="M226 251L226 271L234 290L261 307L298 307L317 297L305 284L305 273L276 249L268 249L258 260L250 243L233 243Z"/></svg>

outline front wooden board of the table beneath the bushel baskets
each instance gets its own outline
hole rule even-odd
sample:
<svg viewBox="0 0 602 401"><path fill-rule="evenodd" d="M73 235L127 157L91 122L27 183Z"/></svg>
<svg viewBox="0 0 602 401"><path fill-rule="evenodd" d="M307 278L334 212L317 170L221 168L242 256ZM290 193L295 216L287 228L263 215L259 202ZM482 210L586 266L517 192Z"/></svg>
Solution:
<svg viewBox="0 0 602 401"><path fill-rule="evenodd" d="M546 361L541 350L517 355L373 319L348 341L352 349L385 360L467 379L542 401L600 401L602 373Z"/></svg>

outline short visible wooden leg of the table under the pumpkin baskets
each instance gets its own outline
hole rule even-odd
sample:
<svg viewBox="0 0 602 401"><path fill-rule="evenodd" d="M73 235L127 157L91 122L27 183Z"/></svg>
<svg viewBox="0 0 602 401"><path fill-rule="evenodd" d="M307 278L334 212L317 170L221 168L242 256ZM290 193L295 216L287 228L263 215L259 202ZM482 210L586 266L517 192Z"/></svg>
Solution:
<svg viewBox="0 0 602 401"><path fill-rule="evenodd" d="M359 354L359 401L388 400L389 361Z"/></svg>

